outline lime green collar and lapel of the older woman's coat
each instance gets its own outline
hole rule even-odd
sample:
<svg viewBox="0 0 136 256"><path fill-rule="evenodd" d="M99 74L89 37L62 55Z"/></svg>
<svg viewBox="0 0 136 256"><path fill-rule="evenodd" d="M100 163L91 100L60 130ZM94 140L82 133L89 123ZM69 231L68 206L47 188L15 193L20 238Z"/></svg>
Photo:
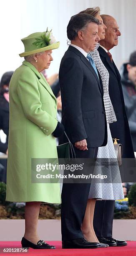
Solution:
<svg viewBox="0 0 136 256"><path fill-rule="evenodd" d="M45 87L45 89L50 93L50 95L55 99L55 102L57 103L57 99L55 97L55 95L53 94L53 91L50 88L50 85L48 84L48 82L46 81L45 77L43 76L43 74L41 74L40 72L38 72L38 70L28 61L23 61L23 65L30 67L30 69L33 70L33 72L36 74L36 76L39 79L39 82Z"/></svg>

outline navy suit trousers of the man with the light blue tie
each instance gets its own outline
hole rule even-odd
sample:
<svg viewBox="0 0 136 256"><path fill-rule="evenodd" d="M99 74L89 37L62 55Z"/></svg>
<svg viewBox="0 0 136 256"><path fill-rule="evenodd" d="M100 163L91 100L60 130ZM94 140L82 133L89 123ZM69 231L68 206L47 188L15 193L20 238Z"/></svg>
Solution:
<svg viewBox="0 0 136 256"><path fill-rule="evenodd" d="M88 151L76 151L76 158L97 157L98 147L88 148ZM61 194L61 233L62 240L83 238L81 224L86 212L86 205L90 190L90 184L63 183Z"/></svg>

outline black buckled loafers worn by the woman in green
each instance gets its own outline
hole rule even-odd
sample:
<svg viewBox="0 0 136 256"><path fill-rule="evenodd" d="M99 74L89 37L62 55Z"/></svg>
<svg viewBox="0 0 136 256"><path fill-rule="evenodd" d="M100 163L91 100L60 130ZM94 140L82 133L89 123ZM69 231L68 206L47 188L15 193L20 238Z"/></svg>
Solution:
<svg viewBox="0 0 136 256"><path fill-rule="evenodd" d="M55 249L55 246L50 246L48 243L46 243L43 240L38 241L37 245L28 241L24 237L22 238L21 241L22 247L24 248L33 248L33 249Z"/></svg>

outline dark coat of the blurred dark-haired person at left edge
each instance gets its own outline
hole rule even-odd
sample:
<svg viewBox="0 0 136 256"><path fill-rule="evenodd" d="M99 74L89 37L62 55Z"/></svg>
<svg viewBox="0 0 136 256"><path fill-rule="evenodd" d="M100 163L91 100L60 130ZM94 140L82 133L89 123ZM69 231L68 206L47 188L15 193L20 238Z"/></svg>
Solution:
<svg viewBox="0 0 136 256"><path fill-rule="evenodd" d="M0 129L7 135L6 143L0 141L0 152L6 153L8 149L9 103L3 96L0 96Z"/></svg>

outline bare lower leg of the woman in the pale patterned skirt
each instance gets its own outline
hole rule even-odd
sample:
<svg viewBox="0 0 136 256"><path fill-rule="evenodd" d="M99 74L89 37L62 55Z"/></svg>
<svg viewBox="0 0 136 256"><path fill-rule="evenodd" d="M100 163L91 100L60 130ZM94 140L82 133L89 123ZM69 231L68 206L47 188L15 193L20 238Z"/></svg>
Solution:
<svg viewBox="0 0 136 256"><path fill-rule="evenodd" d="M86 212L81 226L84 238L90 242L99 242L93 229L93 215L96 200L88 199Z"/></svg>

